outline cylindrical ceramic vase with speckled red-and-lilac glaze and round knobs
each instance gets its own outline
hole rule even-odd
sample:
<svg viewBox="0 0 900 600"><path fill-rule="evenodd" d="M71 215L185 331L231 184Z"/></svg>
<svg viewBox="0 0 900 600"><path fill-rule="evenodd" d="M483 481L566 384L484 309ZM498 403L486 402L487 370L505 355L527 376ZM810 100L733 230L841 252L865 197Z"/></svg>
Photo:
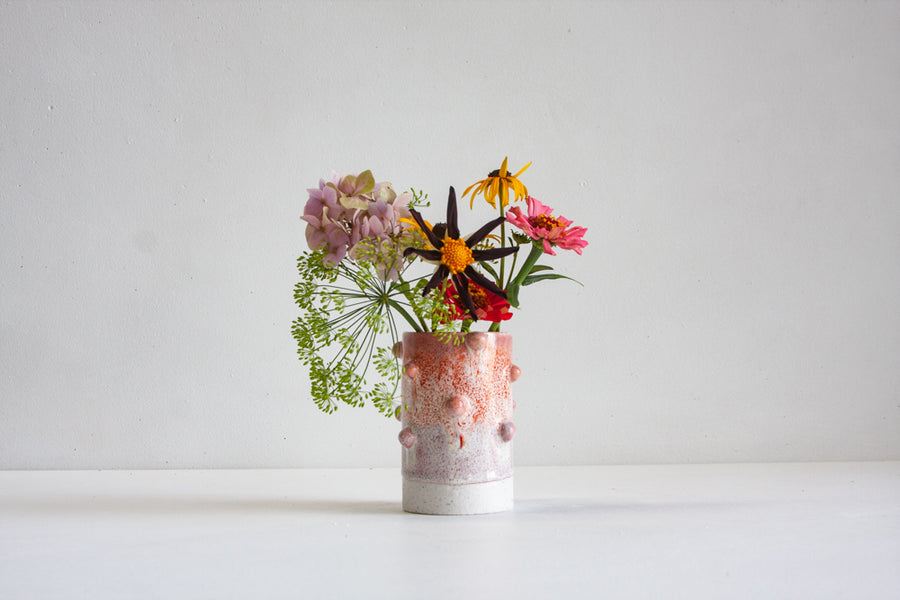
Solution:
<svg viewBox="0 0 900 600"><path fill-rule="evenodd" d="M511 383L521 371L508 333L442 341L406 333L399 441L403 509L477 514L512 508Z"/></svg>

